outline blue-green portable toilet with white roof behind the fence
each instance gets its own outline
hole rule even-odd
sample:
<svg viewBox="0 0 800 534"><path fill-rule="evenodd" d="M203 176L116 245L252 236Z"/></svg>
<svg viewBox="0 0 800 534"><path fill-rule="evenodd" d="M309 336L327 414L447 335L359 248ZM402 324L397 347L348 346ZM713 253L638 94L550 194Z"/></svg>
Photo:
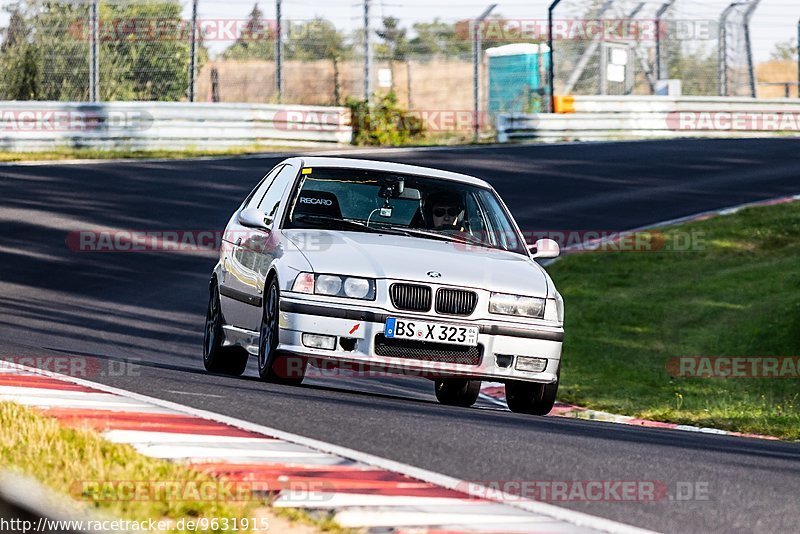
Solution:
<svg viewBox="0 0 800 534"><path fill-rule="evenodd" d="M489 113L537 113L546 93L550 49L514 43L486 49L489 58Z"/></svg>

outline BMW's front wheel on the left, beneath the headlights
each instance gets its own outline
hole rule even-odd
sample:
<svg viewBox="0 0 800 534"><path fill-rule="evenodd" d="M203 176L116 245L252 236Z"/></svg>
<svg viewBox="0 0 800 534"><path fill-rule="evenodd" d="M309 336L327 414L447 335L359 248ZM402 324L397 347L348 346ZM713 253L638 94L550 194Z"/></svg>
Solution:
<svg viewBox="0 0 800 534"><path fill-rule="evenodd" d="M258 336L258 376L265 382L299 386L306 375L307 361L301 356L278 353L280 291L275 278L264 291L264 307Z"/></svg>

